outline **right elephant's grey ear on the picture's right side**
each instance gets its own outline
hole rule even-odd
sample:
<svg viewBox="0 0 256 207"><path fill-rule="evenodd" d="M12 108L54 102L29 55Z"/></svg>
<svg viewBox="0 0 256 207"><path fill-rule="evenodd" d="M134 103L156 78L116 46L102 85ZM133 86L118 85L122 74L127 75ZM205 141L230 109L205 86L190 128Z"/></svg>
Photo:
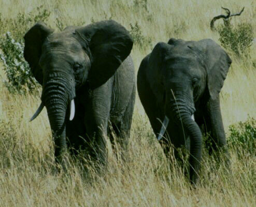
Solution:
<svg viewBox="0 0 256 207"><path fill-rule="evenodd" d="M204 39L207 86L212 99L216 99L232 63L230 56L213 40Z"/></svg>

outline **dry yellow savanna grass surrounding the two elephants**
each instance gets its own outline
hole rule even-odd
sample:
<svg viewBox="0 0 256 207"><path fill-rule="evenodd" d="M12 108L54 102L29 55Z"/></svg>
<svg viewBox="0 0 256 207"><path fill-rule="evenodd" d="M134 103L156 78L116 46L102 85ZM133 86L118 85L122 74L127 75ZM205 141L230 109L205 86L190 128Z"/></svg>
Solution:
<svg viewBox="0 0 256 207"><path fill-rule="evenodd" d="M44 9L46 13L35 19L45 20L55 31L67 25L113 19L134 37L132 56L137 70L153 46L170 37L212 38L220 43L219 33L212 32L209 23L212 17L224 13L221 6L232 12L245 6L244 13L231 23L250 23L256 35L256 3L250 0L1 0L0 33L1 38L7 31L22 37L35 23L26 17L35 17ZM18 21L23 14L24 21ZM256 117L255 47L254 43L249 55L240 57L227 51L233 63L221 92L221 109L227 139L238 141L229 145L230 170L222 163L218 165L204 150L196 190L191 190L183 175L186 169L175 161L169 169L138 97L125 162L110 151L108 166L102 168L88 160L80 161L81 156L80 160L70 160L73 167L68 172L56 174L46 110L29 122L40 104L40 93L9 93L0 66L0 206L255 206L255 121L240 126L244 130L240 138L234 133L237 126L233 134L229 130L231 124Z"/></svg>

